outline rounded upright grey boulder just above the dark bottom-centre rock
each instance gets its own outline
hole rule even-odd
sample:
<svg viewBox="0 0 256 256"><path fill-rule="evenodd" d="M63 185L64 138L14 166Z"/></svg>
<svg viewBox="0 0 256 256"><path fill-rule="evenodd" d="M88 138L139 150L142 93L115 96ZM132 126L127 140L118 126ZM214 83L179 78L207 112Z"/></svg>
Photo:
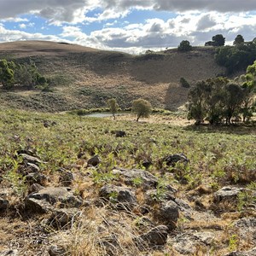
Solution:
<svg viewBox="0 0 256 256"><path fill-rule="evenodd" d="M178 216L178 206L174 201L162 202L155 214L157 221L166 224L170 230L176 227Z"/></svg>

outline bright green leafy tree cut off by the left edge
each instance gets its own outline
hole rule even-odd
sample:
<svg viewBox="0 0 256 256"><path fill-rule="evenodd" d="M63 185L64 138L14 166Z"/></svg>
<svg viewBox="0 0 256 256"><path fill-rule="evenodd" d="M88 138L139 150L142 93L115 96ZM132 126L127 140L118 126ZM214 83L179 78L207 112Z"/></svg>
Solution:
<svg viewBox="0 0 256 256"><path fill-rule="evenodd" d="M0 60L0 83L5 89L15 85L15 63L13 61Z"/></svg>

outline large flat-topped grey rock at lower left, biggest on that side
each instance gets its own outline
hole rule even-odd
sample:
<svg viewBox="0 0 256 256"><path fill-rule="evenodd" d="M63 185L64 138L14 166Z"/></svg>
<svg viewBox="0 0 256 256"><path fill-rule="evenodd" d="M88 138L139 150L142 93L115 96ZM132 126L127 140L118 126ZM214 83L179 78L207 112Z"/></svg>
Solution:
<svg viewBox="0 0 256 256"><path fill-rule="evenodd" d="M60 203L60 207L80 207L83 200L63 187L44 188L25 198L25 207L32 212L48 212L56 203Z"/></svg>

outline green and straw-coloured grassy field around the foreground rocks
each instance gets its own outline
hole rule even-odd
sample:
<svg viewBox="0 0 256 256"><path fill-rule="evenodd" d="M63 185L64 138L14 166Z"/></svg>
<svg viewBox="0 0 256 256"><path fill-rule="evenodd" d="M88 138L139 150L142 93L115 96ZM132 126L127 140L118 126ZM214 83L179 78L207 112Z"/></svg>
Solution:
<svg viewBox="0 0 256 256"><path fill-rule="evenodd" d="M189 255L224 255L253 247L253 240L241 236L233 225L240 218L256 217L252 193L241 193L238 201L228 205L215 204L213 194L224 186L255 191L255 127L193 126L183 117L172 115L135 122L133 116L113 121L4 109L0 116L0 192L3 195L7 191L10 201L8 211L1 215L0 251L13 247L19 248L20 255L48 255L47 248L57 243L67 247L68 255L104 255L107 246L100 241L115 236L119 246L114 248L114 255L183 255L175 250L177 237L199 231L210 232L213 238L196 245L195 253ZM115 131L125 131L126 136L116 137ZM44 225L47 214L27 216L22 210L29 185L19 171L20 150L42 160L40 172L49 177L45 186L59 185L60 168L73 173L71 189L88 201L79 224L70 230L49 230ZM189 164L166 166L163 159L179 153L187 156ZM87 166L95 154L102 162ZM145 161L152 164L148 172L159 180L153 209L171 185L177 189L175 195L191 208L191 218L180 213L177 228L169 234L165 246L139 249L133 238L147 228L138 224L145 216L136 209L125 212L94 202L104 184L123 185L114 169L145 170ZM141 182L134 179L130 186L139 205L146 196ZM146 218L154 222L154 211Z"/></svg>

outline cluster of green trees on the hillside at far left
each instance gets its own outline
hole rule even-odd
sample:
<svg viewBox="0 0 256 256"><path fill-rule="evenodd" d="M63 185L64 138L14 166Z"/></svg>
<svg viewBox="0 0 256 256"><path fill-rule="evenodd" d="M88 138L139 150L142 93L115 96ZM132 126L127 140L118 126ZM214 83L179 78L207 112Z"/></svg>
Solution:
<svg viewBox="0 0 256 256"><path fill-rule="evenodd" d="M0 84L3 89L11 89L15 85L32 89L37 85L46 85L47 79L38 72L33 61L16 64L14 61L0 60Z"/></svg>

